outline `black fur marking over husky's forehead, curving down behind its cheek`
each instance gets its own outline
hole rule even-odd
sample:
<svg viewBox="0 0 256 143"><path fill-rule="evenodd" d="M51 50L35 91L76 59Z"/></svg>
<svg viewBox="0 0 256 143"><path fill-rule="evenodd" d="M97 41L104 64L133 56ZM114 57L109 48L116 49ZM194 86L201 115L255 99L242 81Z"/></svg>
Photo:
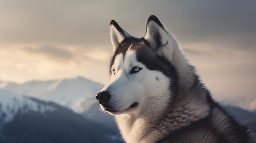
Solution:
<svg viewBox="0 0 256 143"><path fill-rule="evenodd" d="M177 70L173 66L173 64L168 61L163 56L157 56L151 48L149 48L149 43L144 38L135 38L135 37L129 37L124 39L118 46L117 50L115 51L115 54L112 57L111 63L110 63L110 70L109 73L111 75L112 73L112 65L115 62L116 55L122 53L123 55L126 54L126 51L128 48L132 45L130 48L131 50L136 51L137 53L137 60L144 64L149 70L158 70L164 73L166 77L168 77L171 81L170 90L172 92L171 101L175 100L175 95L177 95L178 92L178 74Z"/></svg>

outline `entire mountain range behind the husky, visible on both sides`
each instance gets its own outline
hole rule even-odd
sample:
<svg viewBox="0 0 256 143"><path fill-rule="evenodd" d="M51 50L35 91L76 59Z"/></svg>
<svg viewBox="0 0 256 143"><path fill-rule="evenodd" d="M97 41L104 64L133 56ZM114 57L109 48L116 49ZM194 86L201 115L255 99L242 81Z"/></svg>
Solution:
<svg viewBox="0 0 256 143"><path fill-rule="evenodd" d="M23 84L0 81L0 142L17 142L15 139L20 139L20 133L14 129L24 130L26 136L36 133L33 139L50 138L52 140L46 141L49 143L54 143L56 140L62 143L65 141L79 143L85 140L89 143L102 142L97 139L97 134L106 137L103 137L106 140L104 142L114 140L123 142L114 117L101 111L95 99L95 95L101 88L103 85L83 77L49 81L34 80ZM225 108L242 124L256 129L256 107L254 106L256 97L232 97L221 103L224 103ZM44 125L39 126L40 123ZM42 128L42 132L33 132L36 128ZM56 130L60 136L55 132L45 133L47 130ZM76 133L76 136L74 132L79 134ZM10 136L13 133L15 136ZM65 136L65 134L73 135ZM85 136L85 138L80 139L78 136ZM24 137L24 140L26 139ZM35 142L35 140L25 142L33 141Z"/></svg>

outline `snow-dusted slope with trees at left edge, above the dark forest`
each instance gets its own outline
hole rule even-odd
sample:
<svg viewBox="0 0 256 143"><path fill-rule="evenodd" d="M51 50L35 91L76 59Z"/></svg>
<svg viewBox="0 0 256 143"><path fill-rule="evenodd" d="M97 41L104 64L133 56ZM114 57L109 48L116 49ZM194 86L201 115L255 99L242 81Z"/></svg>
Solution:
<svg viewBox="0 0 256 143"><path fill-rule="evenodd" d="M17 112L54 110L51 106L41 106L27 97L0 89L0 128L13 119Z"/></svg>

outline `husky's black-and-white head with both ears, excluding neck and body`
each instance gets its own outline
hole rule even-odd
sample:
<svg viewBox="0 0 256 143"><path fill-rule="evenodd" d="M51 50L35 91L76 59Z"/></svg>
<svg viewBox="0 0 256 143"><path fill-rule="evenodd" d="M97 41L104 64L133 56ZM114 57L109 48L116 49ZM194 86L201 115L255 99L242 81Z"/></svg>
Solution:
<svg viewBox="0 0 256 143"><path fill-rule="evenodd" d="M159 20L154 15L148 18L142 38L132 37L112 20L110 37L111 81L96 96L101 109L128 114L171 101L178 78L173 65L177 43Z"/></svg>

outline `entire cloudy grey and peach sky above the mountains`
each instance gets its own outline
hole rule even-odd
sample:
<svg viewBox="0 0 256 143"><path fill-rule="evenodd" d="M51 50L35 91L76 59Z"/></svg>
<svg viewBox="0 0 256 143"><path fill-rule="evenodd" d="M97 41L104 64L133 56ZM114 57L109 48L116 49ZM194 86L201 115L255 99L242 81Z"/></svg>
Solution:
<svg viewBox="0 0 256 143"><path fill-rule="evenodd" d="M216 97L256 96L255 0L1 0L0 80L83 76L106 84L109 22L142 37L150 15Z"/></svg>

